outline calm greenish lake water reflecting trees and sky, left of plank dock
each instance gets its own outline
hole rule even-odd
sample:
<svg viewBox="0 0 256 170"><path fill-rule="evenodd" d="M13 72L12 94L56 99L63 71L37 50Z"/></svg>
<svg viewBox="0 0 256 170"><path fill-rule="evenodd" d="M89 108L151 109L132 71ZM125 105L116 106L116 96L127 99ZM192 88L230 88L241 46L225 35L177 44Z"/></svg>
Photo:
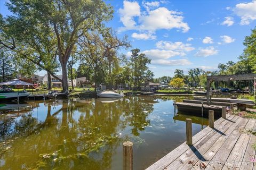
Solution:
<svg viewBox="0 0 256 170"><path fill-rule="evenodd" d="M174 115L173 100L124 97L27 101L0 113L0 169L122 169L122 143L133 142L134 169L145 169L193 135L208 120Z"/></svg>

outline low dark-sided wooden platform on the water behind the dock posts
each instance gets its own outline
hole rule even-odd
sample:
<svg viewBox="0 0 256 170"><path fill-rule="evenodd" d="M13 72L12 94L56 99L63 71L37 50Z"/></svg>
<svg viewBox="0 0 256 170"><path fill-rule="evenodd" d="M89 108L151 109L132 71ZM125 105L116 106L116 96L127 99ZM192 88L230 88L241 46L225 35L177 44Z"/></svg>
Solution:
<svg viewBox="0 0 256 170"><path fill-rule="evenodd" d="M177 102L175 103L178 107L178 111L186 114L193 114L195 116L202 116L202 104L196 103L184 103ZM203 105L203 116L208 117L209 111L214 111L215 117L221 117L222 106L218 105Z"/></svg>

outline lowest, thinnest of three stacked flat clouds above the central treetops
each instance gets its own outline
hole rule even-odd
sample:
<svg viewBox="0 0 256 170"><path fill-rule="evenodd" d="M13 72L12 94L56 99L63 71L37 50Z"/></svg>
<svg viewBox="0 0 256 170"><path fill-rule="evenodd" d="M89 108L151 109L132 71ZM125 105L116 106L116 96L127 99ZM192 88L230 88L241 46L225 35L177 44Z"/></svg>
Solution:
<svg viewBox="0 0 256 170"><path fill-rule="evenodd" d="M189 65L190 61L186 59L181 60L153 60L151 64L160 65L160 66L178 66L178 65Z"/></svg>

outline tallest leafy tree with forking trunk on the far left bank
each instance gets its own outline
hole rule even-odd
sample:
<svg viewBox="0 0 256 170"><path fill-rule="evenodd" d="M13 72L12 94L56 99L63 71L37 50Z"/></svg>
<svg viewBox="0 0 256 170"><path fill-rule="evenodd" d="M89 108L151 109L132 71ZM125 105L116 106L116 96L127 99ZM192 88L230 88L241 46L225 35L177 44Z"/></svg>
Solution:
<svg viewBox="0 0 256 170"><path fill-rule="evenodd" d="M113 13L112 7L101 0L10 0L6 5L13 13L6 21L11 25L9 28L16 29L5 29L6 38L12 43L11 48L15 48L15 38L12 35L19 35L18 40L21 40L25 38L23 34L27 34L27 30L29 35L34 31L37 36L38 32L45 32L44 28L50 28L54 33L62 70L63 91L68 90L67 63L78 38L89 30L104 27L103 22L109 21ZM38 25L41 25L40 30L37 30ZM3 41L1 44L10 47Z"/></svg>

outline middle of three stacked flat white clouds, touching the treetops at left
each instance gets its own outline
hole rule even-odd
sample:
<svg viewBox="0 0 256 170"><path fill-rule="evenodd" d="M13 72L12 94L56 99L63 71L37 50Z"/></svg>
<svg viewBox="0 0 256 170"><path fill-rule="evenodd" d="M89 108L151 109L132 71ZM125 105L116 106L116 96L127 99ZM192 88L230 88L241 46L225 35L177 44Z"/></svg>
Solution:
<svg viewBox="0 0 256 170"><path fill-rule="evenodd" d="M151 60L168 59L173 56L185 55L184 53L174 52L173 50L160 50L160 49L145 50L142 53L144 53Z"/></svg>

